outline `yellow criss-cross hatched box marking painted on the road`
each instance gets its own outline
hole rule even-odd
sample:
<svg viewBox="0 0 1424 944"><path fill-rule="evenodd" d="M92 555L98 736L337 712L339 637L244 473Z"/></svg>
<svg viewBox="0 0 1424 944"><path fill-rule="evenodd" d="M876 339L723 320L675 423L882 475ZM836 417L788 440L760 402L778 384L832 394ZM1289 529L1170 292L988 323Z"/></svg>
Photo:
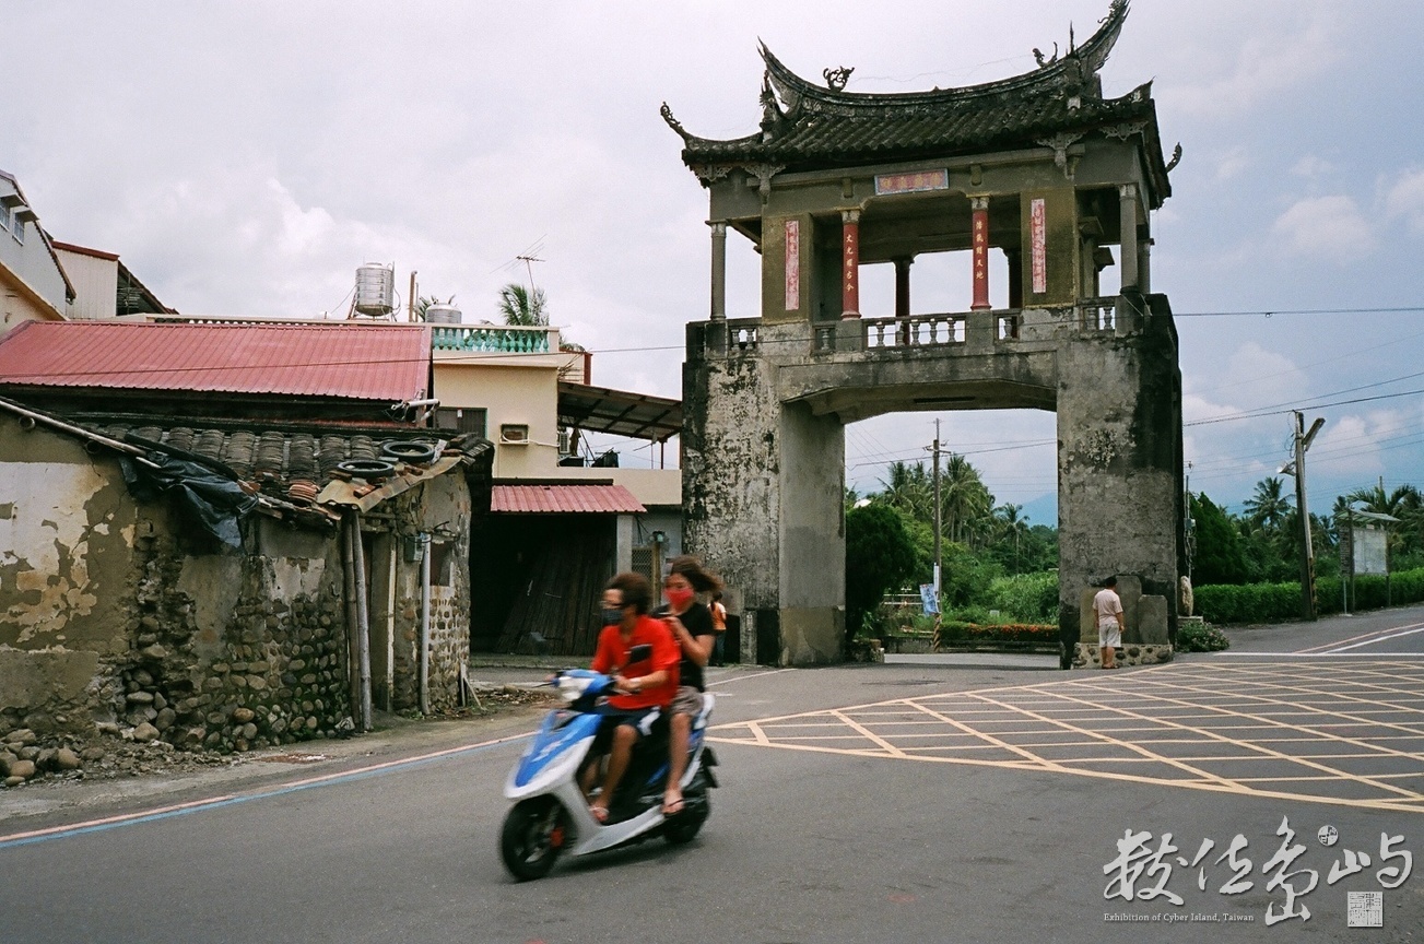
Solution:
<svg viewBox="0 0 1424 944"><path fill-rule="evenodd" d="M1336 644L1339 645L1339 644ZM1042 770L1148 785L1185 786L1240 796L1279 797L1381 810L1424 812L1424 794L1388 780L1424 783L1424 666L1374 659L1313 664L1159 665L1112 679L1074 679L890 699L832 710L719 725L722 743L812 750L840 756ZM928 715L914 718L913 715ZM1102 718L1091 726L1089 722ZM1420 720L1413 720L1418 716ZM1242 723L1212 723L1218 720ZM1047 725L1047 728L1045 728ZM837 735L827 729L840 728ZM941 730L933 730L941 728ZM1334 729L1354 729L1341 733ZM735 736L745 730L749 738ZM1256 732L1259 736L1235 732ZM1376 733L1378 732L1378 733ZM1156 736L1134 736L1156 735ZM1165 735L1165 736L1163 736ZM1284 736L1280 736L1284 735ZM1072 738L1072 740L1055 740ZM1128 739L1131 738L1131 740ZM860 740L873 746L833 746ZM817 742L817 743L807 743ZM965 743L968 742L968 743ZM1381 742L1408 742L1398 745ZM1165 756L1171 745L1218 745L1242 753ZM1287 745L1334 748L1331 753L1286 753ZM1282 749L1277 749L1282 748ZM1049 759L1038 752L1088 749ZM1092 748L1136 756L1095 756ZM1350 750L1351 748L1358 750ZM1420 750L1408 750L1418 748ZM1341 752L1344 749L1344 752ZM973 757L1000 750L1005 757ZM1357 775L1329 760L1414 762L1415 770ZM1237 762L1282 762L1319 773L1233 776L1193 765L1232 769ZM1131 775L1162 765L1183 776ZM1223 766L1225 765L1225 766ZM1094 766L1099 769L1094 769ZM1109 767L1109 769L1101 769ZM1250 765L1240 767L1245 775ZM1272 785L1356 783L1374 797L1269 789Z"/></svg>

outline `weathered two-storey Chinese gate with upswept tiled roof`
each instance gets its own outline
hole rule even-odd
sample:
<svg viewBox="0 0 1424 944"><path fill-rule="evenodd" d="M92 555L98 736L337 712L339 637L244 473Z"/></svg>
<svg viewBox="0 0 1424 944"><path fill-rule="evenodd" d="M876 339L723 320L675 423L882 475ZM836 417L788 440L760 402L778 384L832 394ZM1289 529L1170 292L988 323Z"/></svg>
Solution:
<svg viewBox="0 0 1424 944"><path fill-rule="evenodd" d="M1171 194L1141 85L1098 71L1126 1L1032 73L914 94L815 85L763 46L756 134L682 137L711 194L712 310L688 326L685 541L742 612L746 661L837 661L844 638L844 424L904 410L1058 416L1059 622L1118 574L1125 642L1165 658L1176 629L1182 419L1176 330L1151 293L1148 211ZM1175 158L1173 158L1175 164ZM762 258L760 318L729 319L728 231ZM1010 269L993 309L988 251ZM1118 246L1119 259L1112 249ZM917 313L910 268L973 252L965 312ZM893 318L863 318L859 271L893 263ZM1121 266L1121 293L1098 273ZM887 306L889 308L889 306ZM1079 654L1095 658L1095 632Z"/></svg>

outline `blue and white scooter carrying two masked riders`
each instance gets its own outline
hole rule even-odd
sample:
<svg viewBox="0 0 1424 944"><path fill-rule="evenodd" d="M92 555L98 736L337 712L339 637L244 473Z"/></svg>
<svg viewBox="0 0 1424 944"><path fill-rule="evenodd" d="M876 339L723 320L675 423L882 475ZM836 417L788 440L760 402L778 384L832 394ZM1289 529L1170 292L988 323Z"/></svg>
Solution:
<svg viewBox="0 0 1424 944"><path fill-rule="evenodd" d="M716 786L709 769L716 766L716 757L703 738L712 715L712 695L703 696L702 712L692 720L688 769L682 775L682 810L669 817L662 814L666 738L642 738L604 824L588 812L578 773L600 722L609 712L607 696L617 693L617 688L612 678L588 669L565 669L551 683L568 706L548 713L504 785L504 796L515 800L500 833L506 869L520 881L543 879L565 851L584 856L659 833L674 844L696 836L712 812L708 792Z"/></svg>

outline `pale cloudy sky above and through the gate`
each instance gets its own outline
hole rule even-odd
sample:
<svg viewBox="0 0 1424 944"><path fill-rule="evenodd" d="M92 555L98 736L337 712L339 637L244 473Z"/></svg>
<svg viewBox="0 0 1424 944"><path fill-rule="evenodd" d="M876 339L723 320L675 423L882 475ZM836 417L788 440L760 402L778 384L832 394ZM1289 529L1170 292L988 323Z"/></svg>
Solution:
<svg viewBox="0 0 1424 944"><path fill-rule="evenodd" d="M1106 7L11 0L0 168L57 239L118 252L185 313L343 310L355 268L382 261L402 290L417 269L420 293L494 319L537 248L595 382L678 396L709 248L664 100L736 137L759 120L759 37L803 75L911 91L1028 71ZM1404 0L1135 0L1104 70L1109 95L1155 80L1185 150L1153 288L1180 316L1192 484L1233 508L1287 457L1292 407L1326 417L1317 511L1380 477L1424 486L1420 36ZM729 310L756 315L756 256L729 243ZM968 306L958 261L916 278L917 308ZM867 313L891 312L890 286L866 272ZM941 419L1000 501L1052 523L1051 414ZM850 480L876 488L933 434L934 414L853 426Z"/></svg>

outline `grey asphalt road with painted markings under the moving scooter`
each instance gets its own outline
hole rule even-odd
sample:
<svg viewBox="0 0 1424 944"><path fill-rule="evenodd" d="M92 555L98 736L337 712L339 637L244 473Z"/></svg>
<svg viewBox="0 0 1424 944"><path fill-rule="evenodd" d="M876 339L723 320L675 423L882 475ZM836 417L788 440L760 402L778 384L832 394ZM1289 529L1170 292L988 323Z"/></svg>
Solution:
<svg viewBox="0 0 1424 944"><path fill-rule="evenodd" d="M26 787L0 794L0 940L1414 940L1415 629L1421 608L1249 628L1229 654L1116 672L956 655L716 671L723 786L699 839L525 884L497 836L533 716L73 802ZM1225 894L1233 880L1250 887ZM1267 925L1287 887L1310 917ZM1350 893L1383 927L1349 927Z"/></svg>

